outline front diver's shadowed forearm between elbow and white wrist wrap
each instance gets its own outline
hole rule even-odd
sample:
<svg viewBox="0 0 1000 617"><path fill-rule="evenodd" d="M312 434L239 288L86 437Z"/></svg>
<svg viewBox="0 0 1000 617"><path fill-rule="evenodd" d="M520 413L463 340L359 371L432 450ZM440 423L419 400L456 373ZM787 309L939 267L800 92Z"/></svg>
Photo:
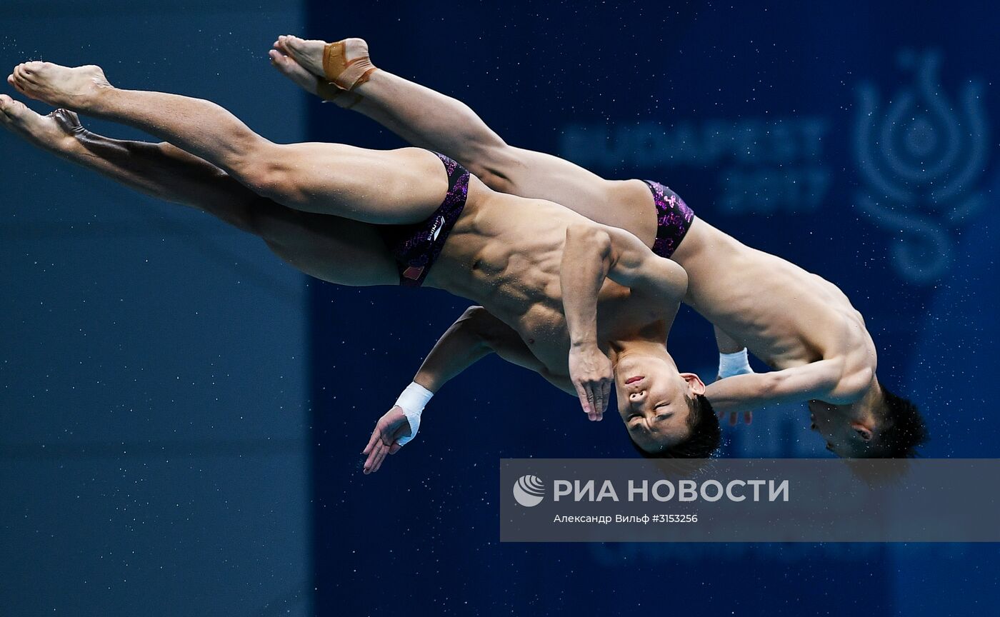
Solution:
<svg viewBox="0 0 1000 617"><path fill-rule="evenodd" d="M492 353L482 330L483 312L480 307L466 310L434 344L413 381L437 392L452 378Z"/></svg>

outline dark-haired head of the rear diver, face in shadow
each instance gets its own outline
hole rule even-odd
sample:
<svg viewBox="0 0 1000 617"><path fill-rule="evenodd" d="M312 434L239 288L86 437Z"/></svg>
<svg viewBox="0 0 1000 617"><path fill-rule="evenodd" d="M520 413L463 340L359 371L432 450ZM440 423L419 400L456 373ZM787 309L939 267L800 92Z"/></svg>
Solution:
<svg viewBox="0 0 1000 617"><path fill-rule="evenodd" d="M912 458L928 440L917 406L877 382L849 405L809 401L809 415L826 449L841 458Z"/></svg>

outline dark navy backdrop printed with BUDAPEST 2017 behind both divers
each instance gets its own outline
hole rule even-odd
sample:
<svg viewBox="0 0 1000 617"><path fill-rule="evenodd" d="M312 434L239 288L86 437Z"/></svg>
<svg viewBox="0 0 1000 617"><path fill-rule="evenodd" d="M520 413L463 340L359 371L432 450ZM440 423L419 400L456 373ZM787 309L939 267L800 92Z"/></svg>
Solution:
<svg viewBox="0 0 1000 617"><path fill-rule="evenodd" d="M993 61L985 2L312 1L307 33L454 95L509 143L649 177L746 243L839 285L879 375L928 416L929 456L992 457ZM394 136L311 103L315 139ZM375 476L357 452L467 305L312 285L317 607L333 614L846 615L995 611L995 546L500 545L501 457L632 456L615 422L487 359ZM686 312L670 345L714 374ZM726 455L825 456L801 406L727 431ZM858 521L863 525L864 521Z"/></svg>

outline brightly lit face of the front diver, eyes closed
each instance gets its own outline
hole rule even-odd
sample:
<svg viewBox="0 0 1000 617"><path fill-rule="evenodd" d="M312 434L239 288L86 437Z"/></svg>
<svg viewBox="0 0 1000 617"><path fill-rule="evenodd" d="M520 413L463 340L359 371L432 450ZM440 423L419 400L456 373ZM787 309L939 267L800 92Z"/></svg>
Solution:
<svg viewBox="0 0 1000 617"><path fill-rule="evenodd" d="M671 362L648 356L619 359L615 387L618 414L629 435L651 453L688 436L687 399L705 392L705 384L694 373L678 373Z"/></svg>

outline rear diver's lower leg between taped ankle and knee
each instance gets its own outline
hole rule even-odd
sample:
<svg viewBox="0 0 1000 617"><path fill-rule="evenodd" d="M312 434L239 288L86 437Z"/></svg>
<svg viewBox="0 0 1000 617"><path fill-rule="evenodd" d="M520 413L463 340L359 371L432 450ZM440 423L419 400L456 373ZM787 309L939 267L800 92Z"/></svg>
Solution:
<svg viewBox="0 0 1000 617"><path fill-rule="evenodd" d="M465 103L387 71L376 71L355 92L362 99L351 109L466 167L483 152L506 145Z"/></svg>

